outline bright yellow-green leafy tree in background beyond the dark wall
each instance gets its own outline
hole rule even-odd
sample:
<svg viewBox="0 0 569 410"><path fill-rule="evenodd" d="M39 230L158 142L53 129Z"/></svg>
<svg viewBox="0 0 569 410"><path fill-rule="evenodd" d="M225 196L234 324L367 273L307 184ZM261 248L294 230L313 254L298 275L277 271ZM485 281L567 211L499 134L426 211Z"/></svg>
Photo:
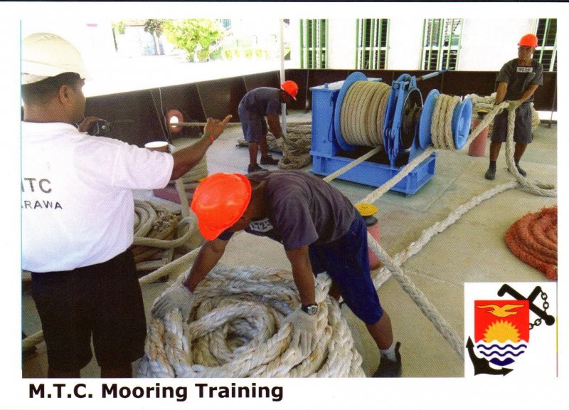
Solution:
<svg viewBox="0 0 569 410"><path fill-rule="evenodd" d="M223 26L208 19L164 20L161 26L166 39L186 51L188 61L208 61L225 36Z"/></svg>

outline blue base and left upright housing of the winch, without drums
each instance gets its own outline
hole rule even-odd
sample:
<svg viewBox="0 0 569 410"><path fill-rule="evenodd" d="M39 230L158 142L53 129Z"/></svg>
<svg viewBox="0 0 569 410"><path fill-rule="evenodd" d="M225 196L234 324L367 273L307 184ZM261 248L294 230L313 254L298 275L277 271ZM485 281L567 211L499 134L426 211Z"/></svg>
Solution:
<svg viewBox="0 0 569 410"><path fill-rule="evenodd" d="M344 81L338 81L310 88L312 91L312 149L310 154L312 155L312 172L314 174L324 176L332 174L360 156L353 157L353 154L346 152L336 138L334 111L343 83ZM369 149L371 148L367 150ZM392 166L388 158L379 159L378 157L381 155L375 155L371 159L361 162L337 178L379 187L395 177L406 165L405 163ZM390 190L406 195L415 194L435 176L436 157L437 152L430 154L427 159L423 160Z"/></svg>

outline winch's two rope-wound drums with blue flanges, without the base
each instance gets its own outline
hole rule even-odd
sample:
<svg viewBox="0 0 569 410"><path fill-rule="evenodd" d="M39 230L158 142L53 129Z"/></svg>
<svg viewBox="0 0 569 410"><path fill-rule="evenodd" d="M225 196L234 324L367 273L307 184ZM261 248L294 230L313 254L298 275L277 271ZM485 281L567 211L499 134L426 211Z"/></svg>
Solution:
<svg viewBox="0 0 569 410"><path fill-rule="evenodd" d="M415 78L403 74L389 87L380 79L352 73L339 93L336 140L346 150L383 147L390 164L406 163L427 147L459 150L467 142L472 101L432 90L423 105L417 82L446 70Z"/></svg>

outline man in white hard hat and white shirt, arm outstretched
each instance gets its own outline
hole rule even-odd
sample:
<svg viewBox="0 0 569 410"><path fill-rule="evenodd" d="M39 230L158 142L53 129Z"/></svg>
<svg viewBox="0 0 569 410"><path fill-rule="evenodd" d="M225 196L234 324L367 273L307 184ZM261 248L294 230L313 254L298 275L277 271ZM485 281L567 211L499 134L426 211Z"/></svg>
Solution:
<svg viewBox="0 0 569 410"><path fill-rule="evenodd" d="M132 189L166 186L196 165L223 132L208 119L198 142L175 154L87 135L83 60L52 33L21 49L21 267L31 272L48 377L132 377L146 320L134 258Z"/></svg>

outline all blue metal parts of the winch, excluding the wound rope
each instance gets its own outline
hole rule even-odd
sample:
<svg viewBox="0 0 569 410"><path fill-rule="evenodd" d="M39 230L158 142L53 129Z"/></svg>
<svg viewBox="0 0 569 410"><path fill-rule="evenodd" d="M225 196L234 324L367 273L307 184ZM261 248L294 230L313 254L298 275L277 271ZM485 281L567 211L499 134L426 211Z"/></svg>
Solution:
<svg viewBox="0 0 569 410"><path fill-rule="evenodd" d="M419 80L438 75L442 71L424 75ZM430 147L431 143L431 116L438 96L437 90L432 90L427 96L425 105L421 108L419 123L416 126L415 137L411 147L405 149L401 140L401 124L403 122L403 108L410 93L419 93L417 78L403 74L398 80L393 81L388 104L385 108L385 120L383 123L383 146L390 164L379 164L371 161L363 161L349 171L341 174L338 179L357 182L370 186L381 186L395 177L401 168L402 159L399 158L408 153L407 161ZM329 175L338 169L345 167L353 159L341 155L341 151L350 152L357 147L344 140L341 132L341 107L346 93L356 81L381 81L377 78L367 78L360 72L351 73L344 81L326 83L310 88L312 91L312 172L314 174ZM422 100L422 96L421 96ZM470 128L470 116L472 115L472 102L464 100L454 110L452 130L457 147L462 148L467 140ZM460 145L462 143L462 145ZM403 148L403 149L402 149ZM418 189L425 185L435 175L435 159L437 152L432 152L408 175L401 179L398 184L391 188L407 195L415 194ZM399 163L399 167L395 163Z"/></svg>

